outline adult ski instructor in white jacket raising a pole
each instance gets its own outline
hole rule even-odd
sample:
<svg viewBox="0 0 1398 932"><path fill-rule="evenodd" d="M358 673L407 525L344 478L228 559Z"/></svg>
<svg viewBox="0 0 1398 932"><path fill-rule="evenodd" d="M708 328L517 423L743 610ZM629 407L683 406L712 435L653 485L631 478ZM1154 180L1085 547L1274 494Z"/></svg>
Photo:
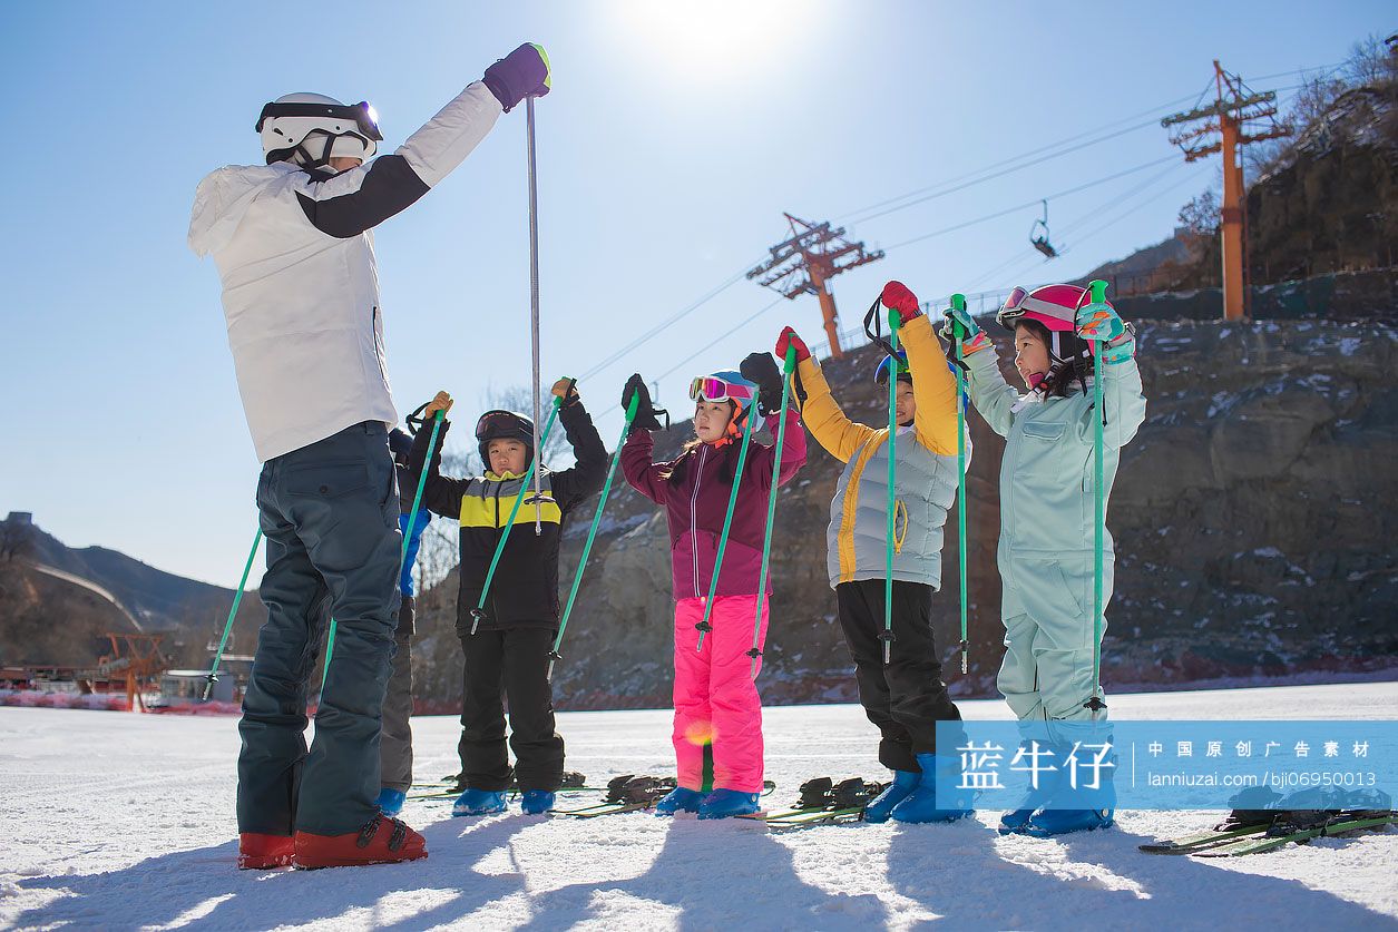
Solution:
<svg viewBox="0 0 1398 932"><path fill-rule="evenodd" d="M502 110L548 89L544 49L521 45L376 159L373 108L291 94L257 120L266 165L221 168L199 184L189 245L218 265L263 464L267 623L239 724L239 868L426 857L422 836L375 805L403 541L370 231L460 165ZM326 604L334 660L308 755Z"/></svg>

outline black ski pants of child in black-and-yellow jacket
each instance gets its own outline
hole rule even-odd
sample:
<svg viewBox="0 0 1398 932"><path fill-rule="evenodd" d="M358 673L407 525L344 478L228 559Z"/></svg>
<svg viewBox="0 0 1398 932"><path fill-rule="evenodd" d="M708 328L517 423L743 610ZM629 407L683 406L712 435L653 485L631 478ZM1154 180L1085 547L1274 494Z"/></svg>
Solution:
<svg viewBox="0 0 1398 932"><path fill-rule="evenodd" d="M563 739L554 728L554 687L547 627L459 630L466 664L461 676L461 776L471 789L506 789L505 704L510 707L510 749L520 789L558 789L563 778Z"/></svg>

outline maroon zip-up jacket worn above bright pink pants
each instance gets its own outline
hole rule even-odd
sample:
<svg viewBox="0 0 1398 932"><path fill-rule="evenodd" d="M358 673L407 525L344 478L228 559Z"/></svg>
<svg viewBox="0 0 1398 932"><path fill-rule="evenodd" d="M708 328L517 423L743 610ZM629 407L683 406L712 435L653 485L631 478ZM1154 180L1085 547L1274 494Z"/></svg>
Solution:
<svg viewBox="0 0 1398 932"><path fill-rule="evenodd" d="M768 418L776 435L777 415ZM670 560L677 599L709 595L719 555L723 516L733 492L733 471L740 443L700 444L670 463L651 463L654 440L647 430L626 439L621 468L626 482L656 504L665 506L670 523ZM777 482L786 485L805 465L805 430L795 411L787 412L787 432ZM762 574L762 535L766 528L768 493L776 471L772 447L754 442L742 467L738 503L733 510L728 546L723 555L716 595L754 595ZM670 478L661 478L670 474ZM768 592L772 592L770 576Z"/></svg>

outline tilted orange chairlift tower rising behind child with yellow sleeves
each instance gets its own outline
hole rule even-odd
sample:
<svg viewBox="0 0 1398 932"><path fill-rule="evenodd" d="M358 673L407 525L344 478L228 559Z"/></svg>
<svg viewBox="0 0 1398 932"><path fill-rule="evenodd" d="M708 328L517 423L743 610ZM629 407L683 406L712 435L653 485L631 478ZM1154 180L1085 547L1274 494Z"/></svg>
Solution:
<svg viewBox="0 0 1398 932"><path fill-rule="evenodd" d="M829 221L811 224L800 217L783 214L791 238L770 247L768 261L748 272L748 279L759 278L763 288L772 288L787 299L815 295L825 319L825 335L830 342L830 356L843 358L840 351L839 314L829 281L840 272L884 259L884 250L868 252L864 243L844 239L844 228L830 229Z"/></svg>

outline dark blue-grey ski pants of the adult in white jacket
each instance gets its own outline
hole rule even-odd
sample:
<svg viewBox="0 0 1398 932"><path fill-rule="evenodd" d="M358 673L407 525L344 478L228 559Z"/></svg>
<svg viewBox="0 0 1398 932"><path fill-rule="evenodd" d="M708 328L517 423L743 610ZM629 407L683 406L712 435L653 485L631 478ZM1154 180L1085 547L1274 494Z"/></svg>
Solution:
<svg viewBox="0 0 1398 932"><path fill-rule="evenodd" d="M379 717L398 608L398 496L377 422L268 460L257 483L267 537L267 623L238 725L238 829L359 830L377 808ZM306 750L306 699L324 619L337 633Z"/></svg>

